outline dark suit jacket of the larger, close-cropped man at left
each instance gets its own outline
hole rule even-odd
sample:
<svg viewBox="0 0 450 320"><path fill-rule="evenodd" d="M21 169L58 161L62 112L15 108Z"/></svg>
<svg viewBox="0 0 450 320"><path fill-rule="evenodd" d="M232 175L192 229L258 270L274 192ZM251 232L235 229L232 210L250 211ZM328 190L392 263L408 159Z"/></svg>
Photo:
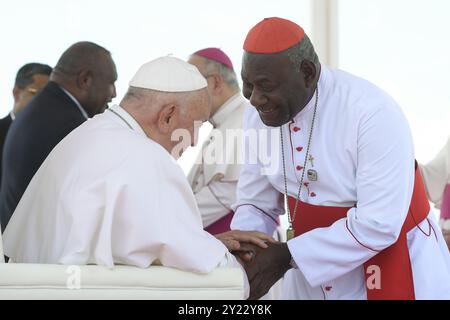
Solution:
<svg viewBox="0 0 450 320"><path fill-rule="evenodd" d="M76 103L52 81L17 115L3 150L2 231L50 151L84 121Z"/></svg>

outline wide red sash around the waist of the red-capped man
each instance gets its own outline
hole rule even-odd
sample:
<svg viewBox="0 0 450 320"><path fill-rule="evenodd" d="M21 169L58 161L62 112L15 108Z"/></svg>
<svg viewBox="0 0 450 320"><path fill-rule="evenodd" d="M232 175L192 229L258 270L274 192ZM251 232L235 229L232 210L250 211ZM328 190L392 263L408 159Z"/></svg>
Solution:
<svg viewBox="0 0 450 320"><path fill-rule="evenodd" d="M295 199L288 198L289 208L294 211ZM316 228L326 228L347 216L348 207L315 206L299 201L297 216L294 221L295 236ZM370 266L378 266L381 273L381 286L367 289L369 300L414 300L414 282L406 239L408 231L425 220L430 205L423 185L422 177L416 163L414 191L405 223L396 243L380 251L364 264L367 279L372 275ZM356 240L357 241L357 240ZM361 244L363 245L363 244ZM369 268L369 269L368 269Z"/></svg>

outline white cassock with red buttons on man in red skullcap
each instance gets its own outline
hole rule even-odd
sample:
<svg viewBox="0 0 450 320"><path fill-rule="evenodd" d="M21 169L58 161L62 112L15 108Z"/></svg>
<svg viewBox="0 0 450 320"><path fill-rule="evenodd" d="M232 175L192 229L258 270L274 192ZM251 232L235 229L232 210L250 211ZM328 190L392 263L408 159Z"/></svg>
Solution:
<svg viewBox="0 0 450 320"><path fill-rule="evenodd" d="M315 96L283 126L288 194L296 197L302 170L312 169L317 181L305 173L303 202L336 207L357 203L357 208L329 227L288 241L298 269L286 273L284 296L366 299L362 265L396 242L408 212L414 184L412 138L398 105L369 82L322 65L318 89L313 161L306 168L302 166ZM248 140L244 143L251 150L246 161L251 157L257 161L241 171L232 229L272 234L276 217L284 214L280 129L266 127L254 108L246 110L244 129L262 130L275 138L267 144L267 152L248 145ZM271 155L271 163L265 154ZM272 172L270 165L275 168ZM419 226L424 232L415 228L407 234L415 297L449 299L450 257L434 214L430 211Z"/></svg>

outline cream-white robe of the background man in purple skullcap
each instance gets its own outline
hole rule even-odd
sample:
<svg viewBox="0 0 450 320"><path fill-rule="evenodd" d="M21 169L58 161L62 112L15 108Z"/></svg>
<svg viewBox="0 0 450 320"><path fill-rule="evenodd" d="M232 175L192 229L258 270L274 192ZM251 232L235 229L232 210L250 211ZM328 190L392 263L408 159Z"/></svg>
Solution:
<svg viewBox="0 0 450 320"><path fill-rule="evenodd" d="M214 114L214 126L206 139L188 181L206 228L231 212L241 170L242 118L248 101L240 93L232 96Z"/></svg>

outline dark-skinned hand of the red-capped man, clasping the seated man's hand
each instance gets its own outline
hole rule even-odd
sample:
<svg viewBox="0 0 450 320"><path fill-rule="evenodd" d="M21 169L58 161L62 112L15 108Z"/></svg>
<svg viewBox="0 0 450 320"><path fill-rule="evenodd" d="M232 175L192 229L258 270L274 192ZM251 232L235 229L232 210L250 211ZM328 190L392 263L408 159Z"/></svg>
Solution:
<svg viewBox="0 0 450 320"><path fill-rule="evenodd" d="M250 283L249 300L264 296L291 268L291 253L285 242L267 243L266 249L243 244L236 254L242 259Z"/></svg>

